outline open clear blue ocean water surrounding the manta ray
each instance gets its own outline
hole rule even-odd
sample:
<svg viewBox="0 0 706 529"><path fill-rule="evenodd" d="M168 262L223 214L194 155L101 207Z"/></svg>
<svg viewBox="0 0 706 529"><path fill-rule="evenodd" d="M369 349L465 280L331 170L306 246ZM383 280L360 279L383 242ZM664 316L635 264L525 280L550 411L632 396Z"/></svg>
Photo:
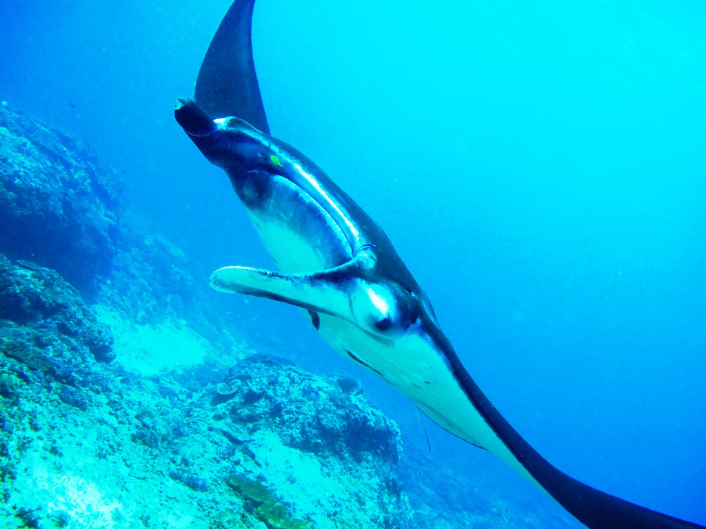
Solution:
<svg viewBox="0 0 706 529"><path fill-rule="evenodd" d="M126 202L210 270L269 257L172 116L229 0L5 0L0 99L88 140ZM706 8L695 1L258 0L273 133L383 226L469 372L546 458L706 523ZM364 379L296 310L234 298L254 342ZM433 454L549 501L426 422ZM476 479L469 475L469 480Z"/></svg>

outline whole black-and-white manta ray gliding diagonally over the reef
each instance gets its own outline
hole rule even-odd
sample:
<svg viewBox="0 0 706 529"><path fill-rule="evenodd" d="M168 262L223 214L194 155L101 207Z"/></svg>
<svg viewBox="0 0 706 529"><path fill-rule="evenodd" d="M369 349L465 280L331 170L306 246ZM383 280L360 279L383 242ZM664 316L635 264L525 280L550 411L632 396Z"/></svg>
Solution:
<svg viewBox="0 0 706 529"><path fill-rule="evenodd" d="M594 529L701 525L585 485L544 459L479 389L429 298L369 214L314 162L270 135L251 45L254 0L235 0L174 114L225 170L279 271L216 270L219 291L303 309L335 351L402 391L431 420L491 451ZM702 528L704 529L704 528Z"/></svg>

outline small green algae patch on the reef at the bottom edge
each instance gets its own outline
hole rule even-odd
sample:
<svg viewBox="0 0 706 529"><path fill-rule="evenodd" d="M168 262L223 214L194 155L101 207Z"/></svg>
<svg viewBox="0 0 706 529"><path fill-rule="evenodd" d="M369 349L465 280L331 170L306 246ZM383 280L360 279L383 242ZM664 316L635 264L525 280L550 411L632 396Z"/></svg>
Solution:
<svg viewBox="0 0 706 529"><path fill-rule="evenodd" d="M261 481L231 474L225 479L228 485L245 501L249 511L268 529L313 529L309 522L294 518L282 501L277 499Z"/></svg>

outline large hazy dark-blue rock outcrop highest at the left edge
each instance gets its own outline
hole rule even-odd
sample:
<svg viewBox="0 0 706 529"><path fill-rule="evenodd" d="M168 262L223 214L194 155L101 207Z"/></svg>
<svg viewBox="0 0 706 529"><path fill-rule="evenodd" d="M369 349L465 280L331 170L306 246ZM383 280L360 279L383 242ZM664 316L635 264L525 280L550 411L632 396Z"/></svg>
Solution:
<svg viewBox="0 0 706 529"><path fill-rule="evenodd" d="M119 178L84 142L0 107L0 248L87 286L116 253Z"/></svg>

